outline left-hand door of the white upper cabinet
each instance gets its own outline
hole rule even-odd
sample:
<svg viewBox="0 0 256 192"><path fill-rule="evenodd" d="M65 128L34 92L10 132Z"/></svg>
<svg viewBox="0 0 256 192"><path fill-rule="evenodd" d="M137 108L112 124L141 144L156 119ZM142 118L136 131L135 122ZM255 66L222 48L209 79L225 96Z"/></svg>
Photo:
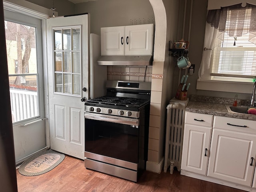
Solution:
<svg viewBox="0 0 256 192"><path fill-rule="evenodd" d="M124 26L101 28L101 55L124 55Z"/></svg>

